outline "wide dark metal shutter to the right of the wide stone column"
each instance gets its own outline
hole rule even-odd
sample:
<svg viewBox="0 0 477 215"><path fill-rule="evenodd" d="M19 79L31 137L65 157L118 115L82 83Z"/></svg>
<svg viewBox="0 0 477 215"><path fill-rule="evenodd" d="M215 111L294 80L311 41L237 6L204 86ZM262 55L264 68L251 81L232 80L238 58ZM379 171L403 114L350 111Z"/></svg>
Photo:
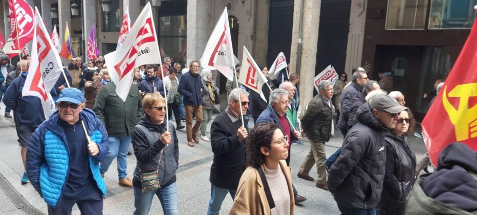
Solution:
<svg viewBox="0 0 477 215"><path fill-rule="evenodd" d="M350 9L351 0L321 1L315 75L318 75L330 64L333 65L336 72L345 72Z"/></svg>

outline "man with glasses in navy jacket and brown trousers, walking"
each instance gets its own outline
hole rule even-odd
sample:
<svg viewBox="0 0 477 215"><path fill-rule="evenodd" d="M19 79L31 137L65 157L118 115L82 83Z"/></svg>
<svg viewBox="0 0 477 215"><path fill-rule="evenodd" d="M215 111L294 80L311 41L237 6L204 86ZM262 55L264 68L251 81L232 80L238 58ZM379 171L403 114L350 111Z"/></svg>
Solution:
<svg viewBox="0 0 477 215"><path fill-rule="evenodd" d="M202 121L202 78L199 75L199 62L190 62L189 72L182 75L177 91L184 96L185 127L187 133L187 145L193 147L194 142L199 143L196 134ZM196 116L196 124L192 126L192 116Z"/></svg>

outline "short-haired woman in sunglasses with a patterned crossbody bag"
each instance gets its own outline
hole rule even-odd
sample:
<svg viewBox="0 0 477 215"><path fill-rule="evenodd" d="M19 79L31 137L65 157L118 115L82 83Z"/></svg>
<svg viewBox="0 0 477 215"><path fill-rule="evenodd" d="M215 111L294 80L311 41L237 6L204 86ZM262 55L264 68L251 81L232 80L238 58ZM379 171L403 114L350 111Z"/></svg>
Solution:
<svg viewBox="0 0 477 215"><path fill-rule="evenodd" d="M158 92L142 99L144 116L133 132L137 165L134 170L134 214L148 214L158 196L164 214L177 214L176 170L179 141L172 123L164 120L166 103ZM167 132L167 126L169 132Z"/></svg>

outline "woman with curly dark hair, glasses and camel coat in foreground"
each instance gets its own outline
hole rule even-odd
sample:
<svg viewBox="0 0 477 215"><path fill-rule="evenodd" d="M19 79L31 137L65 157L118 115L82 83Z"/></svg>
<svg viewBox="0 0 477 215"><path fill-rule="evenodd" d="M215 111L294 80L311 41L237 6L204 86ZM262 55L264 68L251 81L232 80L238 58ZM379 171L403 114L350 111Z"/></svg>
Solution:
<svg viewBox="0 0 477 215"><path fill-rule="evenodd" d="M247 139L247 164L230 214L293 214L288 136L271 122L258 124Z"/></svg>

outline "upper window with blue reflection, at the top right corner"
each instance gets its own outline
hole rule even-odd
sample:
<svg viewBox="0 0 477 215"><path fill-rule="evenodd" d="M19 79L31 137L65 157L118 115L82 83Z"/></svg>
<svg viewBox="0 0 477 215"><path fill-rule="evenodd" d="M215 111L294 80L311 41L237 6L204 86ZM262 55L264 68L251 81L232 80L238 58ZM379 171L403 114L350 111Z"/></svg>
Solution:
<svg viewBox="0 0 477 215"><path fill-rule="evenodd" d="M477 0L432 0L429 29L471 28Z"/></svg>

